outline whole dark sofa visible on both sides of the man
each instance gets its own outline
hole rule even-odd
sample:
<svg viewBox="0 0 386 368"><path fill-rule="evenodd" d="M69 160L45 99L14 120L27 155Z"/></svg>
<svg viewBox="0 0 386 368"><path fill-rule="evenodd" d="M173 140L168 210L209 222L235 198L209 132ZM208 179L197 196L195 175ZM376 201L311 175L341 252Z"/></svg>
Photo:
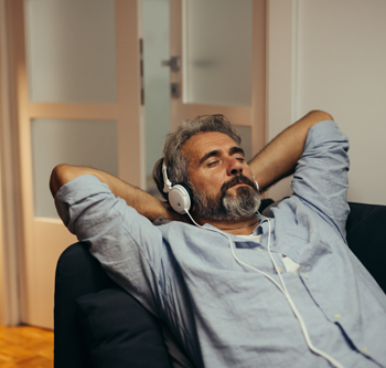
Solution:
<svg viewBox="0 0 386 368"><path fill-rule="evenodd" d="M260 211L271 203L264 200ZM349 246L386 293L386 206L350 207ZM55 368L178 367L159 320L105 274L83 243L57 262L54 337Z"/></svg>

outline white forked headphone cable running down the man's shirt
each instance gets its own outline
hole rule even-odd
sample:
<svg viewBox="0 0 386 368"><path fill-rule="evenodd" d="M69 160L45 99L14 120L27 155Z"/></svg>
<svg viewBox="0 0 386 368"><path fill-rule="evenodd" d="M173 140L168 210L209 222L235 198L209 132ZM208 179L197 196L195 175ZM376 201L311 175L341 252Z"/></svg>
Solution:
<svg viewBox="0 0 386 368"><path fill-rule="evenodd" d="M282 286L280 286L279 283L278 283L276 280L274 280L270 275L268 275L268 274L266 274L265 272L262 272L262 271L260 271L260 270L258 270L258 269L255 269L254 266L251 266L251 265L249 265L249 264L247 264L247 263L240 261L240 260L236 256L235 251L234 251L234 249L233 249L232 239L230 239L230 236L229 236L226 232L224 232L224 231L222 231L222 230L218 230L218 229L204 228L204 227L200 225L199 223L196 223L196 222L194 221L194 219L193 219L192 215L189 213L189 211L186 211L186 213L187 213L187 215L190 217L190 219L192 220L192 222L193 222L196 227L203 228L203 229L205 229L205 230L211 230L211 231L221 233L221 234L225 235L226 238L228 238L228 240L229 240L229 245L230 245L230 252L232 252L233 257L236 260L236 262L239 263L240 265L243 265L243 266L245 266L245 267L248 267L248 269L251 269L251 270L254 270L254 271L256 271L256 272L262 274L262 275L266 276L267 278L269 278L269 280L280 290L280 292L286 296L286 299L288 301L288 303L289 303L289 305L290 305L290 307L291 307L291 309L292 309L294 316L296 316L296 317L298 318L298 320L299 320L301 330L302 330L302 333L303 333L303 335L304 335L304 339L305 339L305 343L307 343L309 349L310 349L311 351L313 351L314 354L320 355L320 356L323 357L324 359L329 360L334 367L336 367L336 368L344 368L344 367L343 367L339 361L336 361L333 357L329 356L326 353L324 353L324 351L322 351L322 350L315 348L315 347L312 345L311 338L310 338L309 333L308 333L307 327L305 327L305 323L304 323L304 320L303 320L303 318L302 318L300 312L298 311L297 306L294 305L294 303L293 303L293 301L292 301L290 294L288 293L287 287L286 287L286 284L285 284L285 281L282 280L281 274L280 274L280 272L279 272L279 270L278 270L278 266L277 266L277 264L276 264L276 262L275 262L275 260L274 260L274 256L272 256L272 254L271 254L271 251L270 251L270 220L269 220L268 218L266 218L265 215L262 215L262 214L259 213L261 218L264 218L264 219L266 219L266 220L268 221L268 246L267 246L267 250L268 250L269 257L270 257L270 260L271 260L271 262L272 262L272 264L274 264L274 266L275 266L275 270L276 270L277 274L279 275L279 278L280 278L280 282L281 282L281 285L282 285Z"/></svg>

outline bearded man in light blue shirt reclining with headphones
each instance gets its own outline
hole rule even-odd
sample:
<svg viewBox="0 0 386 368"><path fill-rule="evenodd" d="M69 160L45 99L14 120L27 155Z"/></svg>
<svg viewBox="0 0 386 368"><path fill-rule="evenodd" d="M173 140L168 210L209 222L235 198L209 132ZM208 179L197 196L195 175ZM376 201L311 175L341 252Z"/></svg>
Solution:
<svg viewBox="0 0 386 368"><path fill-rule="evenodd" d="M345 240L347 150L314 111L248 166L214 115L171 134L154 166L181 214L90 168L57 166L51 190L68 230L196 367L386 367L386 296ZM259 192L292 172L293 194L256 213Z"/></svg>

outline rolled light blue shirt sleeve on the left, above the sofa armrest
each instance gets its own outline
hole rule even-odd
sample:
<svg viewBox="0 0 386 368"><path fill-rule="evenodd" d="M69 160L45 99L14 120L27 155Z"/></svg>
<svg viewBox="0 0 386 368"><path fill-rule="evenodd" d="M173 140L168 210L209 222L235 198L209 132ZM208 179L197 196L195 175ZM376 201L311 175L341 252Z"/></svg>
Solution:
<svg viewBox="0 0 386 368"><path fill-rule="evenodd" d="M90 245L108 275L157 314L169 269L161 231L94 176L64 185L55 204L64 224Z"/></svg>

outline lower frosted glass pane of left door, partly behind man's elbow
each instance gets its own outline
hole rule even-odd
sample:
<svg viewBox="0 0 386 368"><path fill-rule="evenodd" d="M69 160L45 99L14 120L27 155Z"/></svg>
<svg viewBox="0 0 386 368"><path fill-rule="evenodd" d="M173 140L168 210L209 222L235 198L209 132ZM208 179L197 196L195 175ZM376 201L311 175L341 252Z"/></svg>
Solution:
<svg viewBox="0 0 386 368"><path fill-rule="evenodd" d="M58 164L98 168L118 176L116 122L33 119L31 147L34 215L58 218L49 189Z"/></svg>

